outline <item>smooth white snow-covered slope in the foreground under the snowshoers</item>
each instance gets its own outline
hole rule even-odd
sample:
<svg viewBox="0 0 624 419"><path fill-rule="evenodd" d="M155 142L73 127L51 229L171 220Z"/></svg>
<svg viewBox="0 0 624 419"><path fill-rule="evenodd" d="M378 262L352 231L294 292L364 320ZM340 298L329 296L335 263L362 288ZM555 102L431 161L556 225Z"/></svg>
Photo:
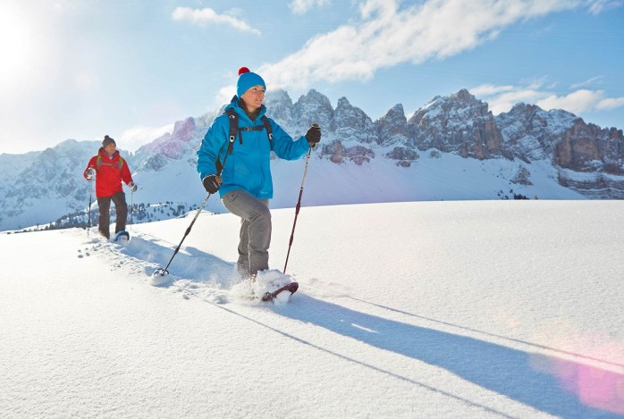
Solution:
<svg viewBox="0 0 624 419"><path fill-rule="evenodd" d="M293 216L273 211L272 268ZM232 292L231 214L198 217L160 288L190 217L135 225L126 247L0 234L0 412L621 417L623 217L620 201L304 205L285 305Z"/></svg>

